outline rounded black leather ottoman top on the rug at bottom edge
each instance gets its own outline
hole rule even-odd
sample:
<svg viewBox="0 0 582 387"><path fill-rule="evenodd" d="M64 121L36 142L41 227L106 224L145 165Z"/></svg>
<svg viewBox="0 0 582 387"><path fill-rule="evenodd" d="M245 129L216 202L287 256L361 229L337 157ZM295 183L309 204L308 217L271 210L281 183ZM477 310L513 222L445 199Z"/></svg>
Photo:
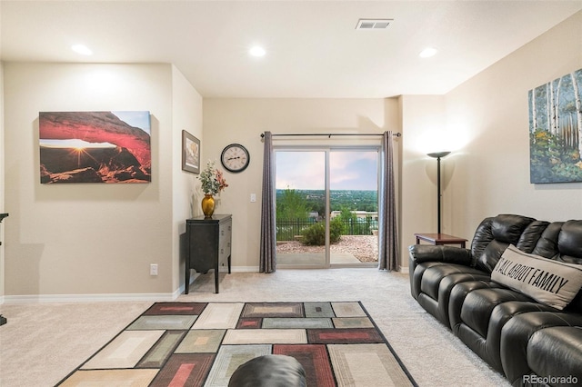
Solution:
<svg viewBox="0 0 582 387"><path fill-rule="evenodd" d="M264 355L241 364L228 387L306 387L306 372L296 358Z"/></svg>

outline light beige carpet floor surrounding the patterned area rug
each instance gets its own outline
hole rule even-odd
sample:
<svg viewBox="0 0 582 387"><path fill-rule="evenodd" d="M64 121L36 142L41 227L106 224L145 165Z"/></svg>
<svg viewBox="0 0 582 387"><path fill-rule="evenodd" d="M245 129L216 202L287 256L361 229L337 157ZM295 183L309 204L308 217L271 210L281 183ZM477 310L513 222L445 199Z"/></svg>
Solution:
<svg viewBox="0 0 582 387"><path fill-rule="evenodd" d="M412 298L405 273L376 269L214 273L178 302L361 301L420 386L509 386ZM132 323L152 302L3 304L0 386L53 386Z"/></svg>

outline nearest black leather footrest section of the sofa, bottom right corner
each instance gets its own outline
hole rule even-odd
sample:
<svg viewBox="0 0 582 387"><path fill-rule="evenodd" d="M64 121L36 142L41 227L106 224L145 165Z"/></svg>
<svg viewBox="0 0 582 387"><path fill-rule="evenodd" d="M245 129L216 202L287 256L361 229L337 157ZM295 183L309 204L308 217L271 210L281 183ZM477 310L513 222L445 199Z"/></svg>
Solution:
<svg viewBox="0 0 582 387"><path fill-rule="evenodd" d="M535 332L527 342L527 363L540 379L552 380L534 381L537 376L527 375L525 382L545 382L552 386L580 385L582 328L554 326Z"/></svg>

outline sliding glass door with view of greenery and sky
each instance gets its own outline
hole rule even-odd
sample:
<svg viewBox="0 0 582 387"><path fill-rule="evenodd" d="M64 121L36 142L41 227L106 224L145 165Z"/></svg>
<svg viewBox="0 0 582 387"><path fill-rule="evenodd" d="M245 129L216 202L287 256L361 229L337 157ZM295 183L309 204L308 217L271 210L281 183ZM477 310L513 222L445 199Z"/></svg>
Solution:
<svg viewBox="0 0 582 387"><path fill-rule="evenodd" d="M277 267L377 265L376 148L276 149Z"/></svg>

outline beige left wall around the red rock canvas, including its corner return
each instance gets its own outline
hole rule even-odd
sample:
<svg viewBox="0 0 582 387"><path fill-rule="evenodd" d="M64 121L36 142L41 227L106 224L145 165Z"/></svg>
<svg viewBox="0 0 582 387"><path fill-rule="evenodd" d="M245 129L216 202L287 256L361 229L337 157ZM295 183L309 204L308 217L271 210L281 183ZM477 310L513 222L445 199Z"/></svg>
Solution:
<svg viewBox="0 0 582 387"><path fill-rule="evenodd" d="M172 65L5 64L6 299L171 297L195 179L179 168L176 150L182 128L202 136L201 108ZM150 112L152 182L39 184L38 112L99 110Z"/></svg>

